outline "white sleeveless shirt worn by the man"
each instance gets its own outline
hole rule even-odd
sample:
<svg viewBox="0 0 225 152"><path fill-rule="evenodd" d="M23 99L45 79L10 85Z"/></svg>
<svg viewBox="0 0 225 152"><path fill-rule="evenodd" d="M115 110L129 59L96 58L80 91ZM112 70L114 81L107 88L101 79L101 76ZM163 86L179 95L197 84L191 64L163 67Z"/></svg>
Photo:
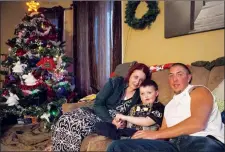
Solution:
<svg viewBox="0 0 225 152"><path fill-rule="evenodd" d="M173 99L166 105L164 117L166 119L168 127L174 126L191 116L190 110L191 97L189 93L194 88L199 86L200 85L188 85L188 87L182 93L174 95ZM207 87L205 88L208 89ZM200 108L201 107L199 107L199 110L201 110ZM213 107L206 128L202 131L190 134L190 136L207 136L207 135L212 135L224 143L224 124L222 123L221 113L218 110L218 106L217 103L215 102L214 96L213 96Z"/></svg>

